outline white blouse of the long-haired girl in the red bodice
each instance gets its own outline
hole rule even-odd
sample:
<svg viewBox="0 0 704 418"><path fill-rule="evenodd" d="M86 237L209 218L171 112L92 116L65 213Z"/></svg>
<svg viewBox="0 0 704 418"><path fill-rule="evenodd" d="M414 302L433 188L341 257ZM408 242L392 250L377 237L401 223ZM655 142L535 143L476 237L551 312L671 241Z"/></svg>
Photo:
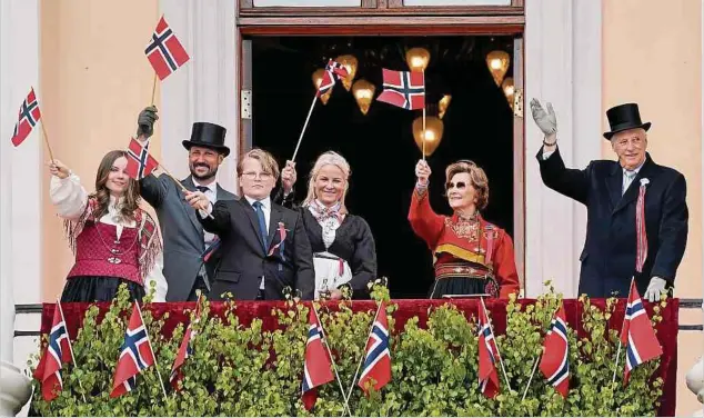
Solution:
<svg viewBox="0 0 704 418"><path fill-rule="evenodd" d="M71 173L66 179L60 179L57 176L51 176L51 182L49 185L49 196L51 202L57 208L57 213L69 220L78 220L86 211L88 205L88 192L81 186L81 179ZM105 225L113 225L117 228L117 238L119 239L124 228L135 228L137 222L133 219L124 219L120 213L120 206L122 199L118 201L113 196L110 197L110 206L108 206L108 213L100 218L100 222ZM167 290L169 285L167 278L163 276L163 252L159 251L157 260L152 270L144 277L144 291L150 292L152 288L152 281L154 281L154 299L155 302L167 301Z"/></svg>

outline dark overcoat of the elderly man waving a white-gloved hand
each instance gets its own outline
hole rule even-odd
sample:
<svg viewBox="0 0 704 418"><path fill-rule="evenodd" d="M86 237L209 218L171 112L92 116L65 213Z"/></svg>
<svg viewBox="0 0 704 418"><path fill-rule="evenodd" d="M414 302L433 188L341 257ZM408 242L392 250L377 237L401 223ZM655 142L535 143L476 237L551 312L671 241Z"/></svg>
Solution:
<svg viewBox="0 0 704 418"><path fill-rule="evenodd" d="M565 168L560 150L543 160L541 149L536 157L545 186L587 209L586 241L580 256L580 293L602 298L617 292L625 298L634 276L641 295L653 276L674 285L687 242L684 176L656 165L648 153L622 197L623 169L616 161L592 161L584 170L577 170ZM636 273L635 207L641 179L645 178L650 180L645 192L647 259L643 272Z"/></svg>

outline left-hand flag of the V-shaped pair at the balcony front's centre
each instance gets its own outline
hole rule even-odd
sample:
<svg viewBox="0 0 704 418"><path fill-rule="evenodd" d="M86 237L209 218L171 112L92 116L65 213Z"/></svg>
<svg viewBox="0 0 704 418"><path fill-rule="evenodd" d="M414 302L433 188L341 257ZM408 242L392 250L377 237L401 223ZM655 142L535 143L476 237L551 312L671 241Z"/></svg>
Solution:
<svg viewBox="0 0 704 418"><path fill-rule="evenodd" d="M323 330L318 315L311 307L308 315L308 342L305 344L305 362L303 364L302 400L306 410L313 409L318 400L318 387L332 381L332 360L323 347Z"/></svg>

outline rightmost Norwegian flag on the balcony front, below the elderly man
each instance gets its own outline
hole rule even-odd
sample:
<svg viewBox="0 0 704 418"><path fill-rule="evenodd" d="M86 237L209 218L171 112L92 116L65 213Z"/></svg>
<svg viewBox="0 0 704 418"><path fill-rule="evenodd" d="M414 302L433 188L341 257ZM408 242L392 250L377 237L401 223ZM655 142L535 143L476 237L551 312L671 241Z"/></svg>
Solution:
<svg viewBox="0 0 704 418"><path fill-rule="evenodd" d="M651 319L641 301L638 289L635 287L635 280L631 280L626 315L623 318L623 328L621 331L621 344L626 347L626 367L623 374L624 384L628 382L631 371L636 366L663 354L663 348L657 341L655 330L653 330L651 326Z"/></svg>

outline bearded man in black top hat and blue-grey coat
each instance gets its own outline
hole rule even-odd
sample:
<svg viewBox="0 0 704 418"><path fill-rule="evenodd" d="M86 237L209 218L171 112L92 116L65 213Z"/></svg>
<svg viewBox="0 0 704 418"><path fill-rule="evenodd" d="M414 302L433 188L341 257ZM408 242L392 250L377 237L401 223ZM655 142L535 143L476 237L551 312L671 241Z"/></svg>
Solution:
<svg viewBox="0 0 704 418"><path fill-rule="evenodd" d="M157 119L155 107L140 112L138 139L143 141L152 136ZM213 203L237 199L215 181L218 167L230 153L224 141L225 128L209 122L193 123L191 138L182 141L189 152L191 176L181 180L181 185L191 191L203 191ZM164 241L163 275L169 285L167 301L195 300L195 291L207 293L210 279L214 277L220 258L218 237L203 231L195 211L184 200L181 187L171 177L147 176L140 180L140 193L159 217Z"/></svg>

